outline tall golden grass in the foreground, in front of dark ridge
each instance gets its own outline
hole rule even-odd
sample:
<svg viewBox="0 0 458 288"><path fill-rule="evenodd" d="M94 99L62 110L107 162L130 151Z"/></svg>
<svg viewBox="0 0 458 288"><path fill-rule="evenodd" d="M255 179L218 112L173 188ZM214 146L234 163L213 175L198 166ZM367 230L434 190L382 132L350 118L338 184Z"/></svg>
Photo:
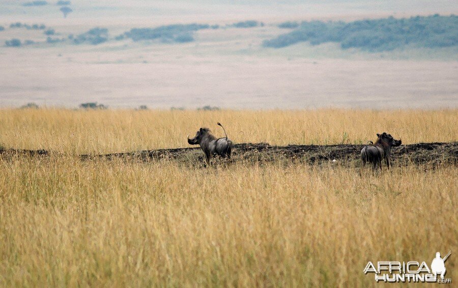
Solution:
<svg viewBox="0 0 458 288"><path fill-rule="evenodd" d="M63 157L1 169L2 286L367 286L369 260L430 264L458 248L456 167L359 177Z"/></svg>

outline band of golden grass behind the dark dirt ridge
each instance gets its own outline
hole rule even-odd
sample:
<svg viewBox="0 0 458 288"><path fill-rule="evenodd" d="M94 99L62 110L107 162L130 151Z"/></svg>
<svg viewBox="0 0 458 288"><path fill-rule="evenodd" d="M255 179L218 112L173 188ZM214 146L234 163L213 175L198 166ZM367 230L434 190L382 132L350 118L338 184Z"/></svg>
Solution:
<svg viewBox="0 0 458 288"><path fill-rule="evenodd" d="M221 122L236 143L271 145L366 143L389 132L404 143L456 141L458 110L163 111L0 110L7 148L112 153L189 147L186 135Z"/></svg>

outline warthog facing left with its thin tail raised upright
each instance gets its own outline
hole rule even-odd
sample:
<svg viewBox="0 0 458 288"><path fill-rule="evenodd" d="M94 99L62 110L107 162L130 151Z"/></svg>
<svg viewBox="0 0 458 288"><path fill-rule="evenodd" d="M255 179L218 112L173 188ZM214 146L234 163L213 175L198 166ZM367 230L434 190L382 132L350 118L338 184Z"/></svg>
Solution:
<svg viewBox="0 0 458 288"><path fill-rule="evenodd" d="M226 137L216 138L208 128L201 128L192 139L189 139L188 135L188 143L201 146L208 164L210 164L211 157L216 155L231 159L232 141L227 138L224 127L220 123L217 124L224 130Z"/></svg>

